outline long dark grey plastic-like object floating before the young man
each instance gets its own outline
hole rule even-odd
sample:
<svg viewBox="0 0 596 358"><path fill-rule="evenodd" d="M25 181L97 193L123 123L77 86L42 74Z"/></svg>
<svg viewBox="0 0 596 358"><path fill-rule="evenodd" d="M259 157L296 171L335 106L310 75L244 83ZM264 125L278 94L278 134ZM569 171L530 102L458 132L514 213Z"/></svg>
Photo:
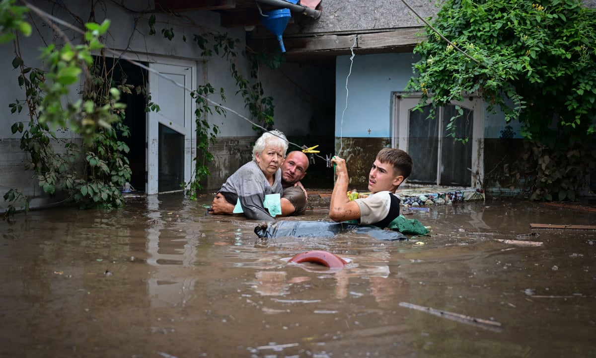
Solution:
<svg viewBox="0 0 596 358"><path fill-rule="evenodd" d="M393 230L383 230L374 226L359 226L351 223L330 223L312 220L280 220L274 223L263 223L254 228L260 239L275 237L334 237L340 233L353 232L365 234L378 240L406 240L408 237Z"/></svg>

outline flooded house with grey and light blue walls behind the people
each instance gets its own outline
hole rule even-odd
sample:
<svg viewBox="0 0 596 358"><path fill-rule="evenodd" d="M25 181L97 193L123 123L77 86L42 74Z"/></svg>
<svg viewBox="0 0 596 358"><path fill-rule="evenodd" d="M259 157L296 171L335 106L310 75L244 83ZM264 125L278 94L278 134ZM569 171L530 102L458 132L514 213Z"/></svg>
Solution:
<svg viewBox="0 0 596 358"><path fill-rule="evenodd" d="M478 94L440 109L433 121L412 110L420 96L407 94L405 87L419 60L413 49L423 39L421 18L439 10L434 2L160 0L131 1L126 6L108 2L101 8L78 1L33 5L67 23L73 18L111 20L105 37L110 51L98 58L110 66L117 63L128 84L144 87L150 95L123 95L130 136L122 140L130 148L129 184L138 192L177 191L193 180L195 164L201 161L197 153L201 121L217 131L208 147L213 154L207 163L210 174L201 183L207 191L218 189L249 160L258 131L275 128L290 139L289 150L317 146L318 153L310 155L308 187L331 187L328 159L340 155L349 162L350 186L366 190L375 153L392 146L414 159L411 186L455 187L482 196L484 191L509 192L508 165L522 145L519 124L506 124L499 113L489 113ZM30 19L35 31L20 37L16 55L28 66L42 67L39 48L49 39L57 45L64 40L57 27L52 29L38 14ZM82 23L74 21L73 26ZM77 39L74 30L59 28ZM231 50L222 45L228 39ZM15 100L23 103L25 95L11 66L15 47L1 46L11 53L0 60L6 72L0 89L6 112L0 118L1 190L19 187L31 197L32 207L48 206L59 199L46 195L35 175L23 169L29 155L20 148L20 134L10 129L30 117L26 110L10 114L8 106ZM262 62L255 70L246 53L269 54L269 61L280 66L272 69ZM207 85L216 89L208 95L210 105L222 110L199 110L191 97L190 91ZM250 97L254 93L256 100ZM159 106L159 111L146 111L149 104ZM465 144L445 134L455 105L464 110L456 131L468 138ZM273 123L258 119L258 110L272 113ZM57 128L55 133L52 144L58 150L64 143L80 141L66 129ZM0 203L0 211L7 205Z"/></svg>

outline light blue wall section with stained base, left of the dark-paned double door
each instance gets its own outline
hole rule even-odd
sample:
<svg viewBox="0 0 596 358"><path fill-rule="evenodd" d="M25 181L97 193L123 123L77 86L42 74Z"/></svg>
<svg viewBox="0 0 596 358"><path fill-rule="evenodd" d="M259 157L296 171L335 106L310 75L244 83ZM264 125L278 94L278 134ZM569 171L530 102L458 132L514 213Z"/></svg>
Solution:
<svg viewBox="0 0 596 358"><path fill-rule="evenodd" d="M404 90L415 61L411 53L337 57L335 153L349 163L350 188L367 189L377 152L391 146L392 93Z"/></svg>

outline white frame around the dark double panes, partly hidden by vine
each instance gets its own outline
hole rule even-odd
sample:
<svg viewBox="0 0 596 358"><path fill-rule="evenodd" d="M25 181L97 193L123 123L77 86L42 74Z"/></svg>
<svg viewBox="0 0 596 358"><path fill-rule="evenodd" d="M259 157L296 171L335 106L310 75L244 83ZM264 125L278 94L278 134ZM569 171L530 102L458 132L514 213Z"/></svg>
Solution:
<svg viewBox="0 0 596 358"><path fill-rule="evenodd" d="M393 113L391 129L391 146L408 151L409 112L417 106L421 93L393 92ZM427 103L431 103L429 98ZM472 167L470 169L472 187L482 188L484 184L484 101L481 97L470 95L464 101L454 101L451 104L465 107L473 111L472 129ZM440 131L439 131L440 132ZM415 163L414 163L415 165ZM440 175L440 172L439 174Z"/></svg>

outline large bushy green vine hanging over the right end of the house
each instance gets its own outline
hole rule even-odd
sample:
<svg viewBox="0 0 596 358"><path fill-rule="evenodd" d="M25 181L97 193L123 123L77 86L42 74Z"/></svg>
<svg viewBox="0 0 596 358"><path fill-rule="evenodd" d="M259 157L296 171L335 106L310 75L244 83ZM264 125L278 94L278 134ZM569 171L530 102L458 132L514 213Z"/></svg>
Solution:
<svg viewBox="0 0 596 358"><path fill-rule="evenodd" d="M596 10L580 0L448 0L432 27L407 87L422 94L419 107L481 95L522 124L524 193L575 200L596 160Z"/></svg>

